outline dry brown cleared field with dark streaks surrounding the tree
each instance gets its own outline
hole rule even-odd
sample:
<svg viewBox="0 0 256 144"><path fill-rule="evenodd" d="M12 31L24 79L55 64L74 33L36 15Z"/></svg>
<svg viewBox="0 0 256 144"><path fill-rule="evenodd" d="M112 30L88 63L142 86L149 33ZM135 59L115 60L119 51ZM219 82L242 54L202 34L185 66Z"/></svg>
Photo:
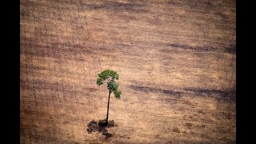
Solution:
<svg viewBox="0 0 256 144"><path fill-rule="evenodd" d="M236 143L234 0L20 2L21 143ZM112 137L102 70L119 74Z"/></svg>

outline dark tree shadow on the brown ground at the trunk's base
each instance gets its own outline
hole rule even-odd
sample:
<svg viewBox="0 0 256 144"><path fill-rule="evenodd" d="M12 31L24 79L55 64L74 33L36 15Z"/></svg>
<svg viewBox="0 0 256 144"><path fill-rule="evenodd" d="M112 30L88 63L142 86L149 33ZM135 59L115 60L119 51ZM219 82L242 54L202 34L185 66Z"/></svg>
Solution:
<svg viewBox="0 0 256 144"><path fill-rule="evenodd" d="M108 130L106 128L110 127L110 126L105 126L105 125L100 125L98 124L98 122L92 120L89 122L89 124L87 125L87 133L91 134L93 132L98 132L98 133L102 133L102 135L105 135L105 138L108 139L112 136L112 134L110 134L108 132Z"/></svg>

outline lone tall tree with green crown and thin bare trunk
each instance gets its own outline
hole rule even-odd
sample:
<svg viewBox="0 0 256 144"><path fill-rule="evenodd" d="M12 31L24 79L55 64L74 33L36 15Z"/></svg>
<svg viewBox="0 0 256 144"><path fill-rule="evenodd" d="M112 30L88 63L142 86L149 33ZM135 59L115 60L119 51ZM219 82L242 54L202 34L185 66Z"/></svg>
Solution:
<svg viewBox="0 0 256 144"><path fill-rule="evenodd" d="M109 89L109 100L107 102L107 112L106 112L106 126L108 124L109 118L109 108L110 108L110 94L114 92L114 97L120 99L121 90L118 90L119 84L116 82L118 79L118 74L114 70L103 70L102 73L98 74L97 84L101 86L103 82L106 82L107 89Z"/></svg>

